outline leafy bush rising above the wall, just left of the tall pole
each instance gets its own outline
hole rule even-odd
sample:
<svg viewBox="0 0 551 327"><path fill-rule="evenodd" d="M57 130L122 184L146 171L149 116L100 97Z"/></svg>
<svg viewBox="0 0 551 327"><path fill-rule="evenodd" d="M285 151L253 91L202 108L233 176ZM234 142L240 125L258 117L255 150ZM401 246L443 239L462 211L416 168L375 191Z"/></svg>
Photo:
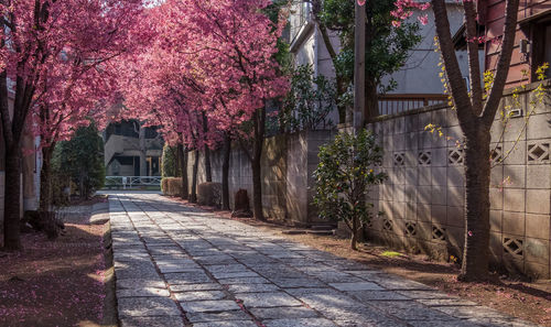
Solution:
<svg viewBox="0 0 551 327"><path fill-rule="evenodd" d="M299 65L291 74L291 87L282 103L280 124L288 132L331 127L327 116L336 107L336 89L325 76L314 76L311 65Z"/></svg>

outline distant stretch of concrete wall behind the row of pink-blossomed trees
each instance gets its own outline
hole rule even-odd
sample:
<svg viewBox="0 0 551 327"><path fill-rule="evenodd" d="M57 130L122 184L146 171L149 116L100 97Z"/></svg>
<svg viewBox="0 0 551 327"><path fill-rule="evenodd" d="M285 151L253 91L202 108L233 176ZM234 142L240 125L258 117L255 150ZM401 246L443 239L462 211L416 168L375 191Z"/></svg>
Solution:
<svg viewBox="0 0 551 327"><path fill-rule="evenodd" d="M317 149L331 140L331 131L304 131L276 135L264 141L262 153L262 205L267 217L296 225L317 221L313 198L313 172L317 166ZM190 153L187 173L193 173L196 152ZM222 183L223 150L213 151L213 182ZM198 183L205 182L205 162L199 154ZM247 154L236 143L231 151L229 193L230 206L239 188L247 189L252 206L252 173Z"/></svg>

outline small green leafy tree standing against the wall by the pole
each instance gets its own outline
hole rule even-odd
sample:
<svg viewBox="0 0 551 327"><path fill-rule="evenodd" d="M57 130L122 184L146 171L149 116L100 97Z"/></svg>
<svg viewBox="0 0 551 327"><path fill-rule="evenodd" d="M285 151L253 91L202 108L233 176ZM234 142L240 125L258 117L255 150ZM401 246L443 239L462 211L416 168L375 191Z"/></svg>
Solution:
<svg viewBox="0 0 551 327"><path fill-rule="evenodd" d="M342 132L335 141L320 148L318 156L314 204L321 217L346 222L352 231L350 247L357 250L358 231L374 215L367 192L387 178L385 173L375 171L382 162L382 148L376 135L366 130L356 135Z"/></svg>

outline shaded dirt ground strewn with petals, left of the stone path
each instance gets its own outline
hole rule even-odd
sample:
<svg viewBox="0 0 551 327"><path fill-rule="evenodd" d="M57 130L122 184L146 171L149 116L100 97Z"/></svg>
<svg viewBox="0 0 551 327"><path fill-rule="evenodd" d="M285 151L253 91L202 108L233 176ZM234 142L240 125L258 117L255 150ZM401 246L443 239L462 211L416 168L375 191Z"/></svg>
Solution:
<svg viewBox="0 0 551 327"><path fill-rule="evenodd" d="M0 326L116 325L112 306L104 307L108 225L65 226L55 241L24 233L22 251L0 251Z"/></svg>

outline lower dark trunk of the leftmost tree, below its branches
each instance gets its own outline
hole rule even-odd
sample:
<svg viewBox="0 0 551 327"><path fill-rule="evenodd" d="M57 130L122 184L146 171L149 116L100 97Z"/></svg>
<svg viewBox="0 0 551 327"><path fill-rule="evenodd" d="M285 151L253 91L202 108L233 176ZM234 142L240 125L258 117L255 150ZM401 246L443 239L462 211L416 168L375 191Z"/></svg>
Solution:
<svg viewBox="0 0 551 327"><path fill-rule="evenodd" d="M7 250L21 249L21 149L19 142L6 151L3 239Z"/></svg>

